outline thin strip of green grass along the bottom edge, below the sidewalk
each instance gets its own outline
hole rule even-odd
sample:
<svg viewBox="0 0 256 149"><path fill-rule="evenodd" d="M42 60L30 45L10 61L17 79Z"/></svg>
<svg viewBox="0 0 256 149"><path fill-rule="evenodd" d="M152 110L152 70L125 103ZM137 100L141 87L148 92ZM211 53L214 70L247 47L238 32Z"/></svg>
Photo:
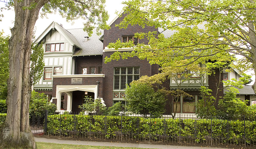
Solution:
<svg viewBox="0 0 256 149"><path fill-rule="evenodd" d="M121 147L109 147L109 146L90 146L90 145L70 145L70 144L57 144L57 143L44 143L37 142L36 147L38 149L134 149L134 148L121 148ZM143 149L143 148L138 148Z"/></svg>

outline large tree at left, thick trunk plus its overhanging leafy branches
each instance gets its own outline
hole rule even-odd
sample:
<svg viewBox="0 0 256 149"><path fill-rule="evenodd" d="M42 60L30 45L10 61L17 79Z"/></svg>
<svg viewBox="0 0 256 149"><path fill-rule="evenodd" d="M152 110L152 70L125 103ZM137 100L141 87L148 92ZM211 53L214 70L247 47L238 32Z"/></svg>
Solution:
<svg viewBox="0 0 256 149"><path fill-rule="evenodd" d="M90 36L95 26L108 28L108 14L104 10L105 0L10 0L5 8L15 11L14 27L9 40L10 75L7 81L7 117L0 130L2 147L35 148L35 140L29 126L29 103L31 97L30 58L31 42L39 11L59 12L67 21L82 18L84 30ZM2 9L2 8L1 8ZM2 16L2 15L1 15Z"/></svg>

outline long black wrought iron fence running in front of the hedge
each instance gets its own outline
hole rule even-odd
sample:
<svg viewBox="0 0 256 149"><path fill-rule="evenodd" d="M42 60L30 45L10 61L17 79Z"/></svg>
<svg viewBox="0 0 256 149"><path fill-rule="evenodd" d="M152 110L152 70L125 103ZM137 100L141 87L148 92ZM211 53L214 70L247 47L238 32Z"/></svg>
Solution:
<svg viewBox="0 0 256 149"><path fill-rule="evenodd" d="M170 115L143 118L63 113L48 115L45 132L69 138L255 147L255 120L198 119L193 114L178 114L173 119Z"/></svg>

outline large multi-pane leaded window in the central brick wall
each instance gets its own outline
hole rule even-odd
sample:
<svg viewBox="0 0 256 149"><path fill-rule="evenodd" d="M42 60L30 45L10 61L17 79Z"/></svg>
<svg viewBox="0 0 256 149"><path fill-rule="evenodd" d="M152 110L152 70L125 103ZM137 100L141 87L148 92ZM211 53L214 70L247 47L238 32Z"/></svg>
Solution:
<svg viewBox="0 0 256 149"><path fill-rule="evenodd" d="M114 90L124 90L133 80L139 80L139 67L114 68Z"/></svg>

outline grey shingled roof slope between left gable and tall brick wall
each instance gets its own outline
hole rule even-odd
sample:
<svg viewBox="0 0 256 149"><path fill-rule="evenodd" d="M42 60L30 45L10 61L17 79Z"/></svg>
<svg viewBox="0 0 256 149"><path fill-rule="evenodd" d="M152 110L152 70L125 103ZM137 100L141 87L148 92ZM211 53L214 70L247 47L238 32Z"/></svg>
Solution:
<svg viewBox="0 0 256 149"><path fill-rule="evenodd" d="M85 55L102 55L103 54L103 43L99 40L102 35L96 34L96 28L93 30L91 37L85 41L85 37L88 34L83 31L82 28L79 29L68 29L72 35L77 39L78 43L81 45L82 49L76 50L73 56L85 56ZM100 30L103 32L103 30Z"/></svg>

